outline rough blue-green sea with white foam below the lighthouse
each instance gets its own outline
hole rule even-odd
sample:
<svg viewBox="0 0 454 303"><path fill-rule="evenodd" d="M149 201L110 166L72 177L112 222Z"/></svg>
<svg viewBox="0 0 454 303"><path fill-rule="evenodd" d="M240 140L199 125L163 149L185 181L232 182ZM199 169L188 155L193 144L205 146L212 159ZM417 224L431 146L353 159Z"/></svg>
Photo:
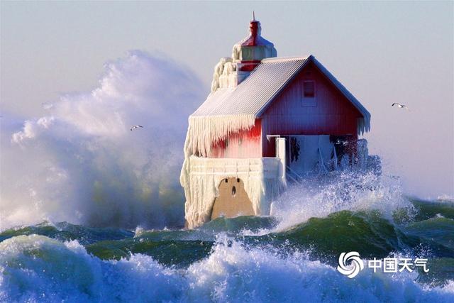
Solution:
<svg viewBox="0 0 454 303"><path fill-rule="evenodd" d="M374 180L292 187L273 216L195 230L43 221L0 233L0 302L454 302L454 201ZM336 270L427 258L428 272Z"/></svg>

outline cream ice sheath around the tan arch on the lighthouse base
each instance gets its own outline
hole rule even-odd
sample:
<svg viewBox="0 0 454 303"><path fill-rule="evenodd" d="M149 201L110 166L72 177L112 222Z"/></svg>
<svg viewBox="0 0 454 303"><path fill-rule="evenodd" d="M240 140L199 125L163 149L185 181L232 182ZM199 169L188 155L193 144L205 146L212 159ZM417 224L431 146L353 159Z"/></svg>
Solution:
<svg viewBox="0 0 454 303"><path fill-rule="evenodd" d="M279 171L279 158L200 158L187 159L181 182L186 194L185 219L188 228L195 228L211 219L218 185L227 177L240 178L244 183L255 215L270 213L270 203L285 187Z"/></svg>

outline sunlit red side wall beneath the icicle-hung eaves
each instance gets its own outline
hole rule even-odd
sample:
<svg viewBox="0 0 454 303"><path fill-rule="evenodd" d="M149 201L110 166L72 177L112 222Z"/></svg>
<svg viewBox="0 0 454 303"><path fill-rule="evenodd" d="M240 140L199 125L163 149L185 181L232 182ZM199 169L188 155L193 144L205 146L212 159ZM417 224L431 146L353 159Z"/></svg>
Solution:
<svg viewBox="0 0 454 303"><path fill-rule="evenodd" d="M261 135L261 123L257 119L250 131L233 133L228 140L215 143L211 147L209 158L261 158Z"/></svg>

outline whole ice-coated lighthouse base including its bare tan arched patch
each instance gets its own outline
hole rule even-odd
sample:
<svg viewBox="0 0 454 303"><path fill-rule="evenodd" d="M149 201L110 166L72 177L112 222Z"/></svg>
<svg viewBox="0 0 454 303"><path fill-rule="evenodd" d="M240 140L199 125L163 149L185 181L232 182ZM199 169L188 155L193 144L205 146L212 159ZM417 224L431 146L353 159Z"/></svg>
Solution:
<svg viewBox="0 0 454 303"><path fill-rule="evenodd" d="M286 187L283 171L279 158L187 158L180 176L187 227L201 226L213 213L215 217L234 216L235 210L256 216L270 214L272 200Z"/></svg>

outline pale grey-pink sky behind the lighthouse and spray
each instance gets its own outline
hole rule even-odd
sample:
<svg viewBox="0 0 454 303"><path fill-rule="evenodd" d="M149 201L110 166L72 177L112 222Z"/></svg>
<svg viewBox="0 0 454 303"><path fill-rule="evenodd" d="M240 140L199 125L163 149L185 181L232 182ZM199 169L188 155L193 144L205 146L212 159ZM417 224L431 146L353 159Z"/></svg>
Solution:
<svg viewBox="0 0 454 303"><path fill-rule="evenodd" d="M1 1L1 114L96 87L109 60L160 53L209 92L251 13L279 56L313 54L372 114L372 153L406 192L454 195L454 2ZM202 102L203 100L201 100ZM411 111L391 108L407 104ZM182 123L186 123L183 121Z"/></svg>

